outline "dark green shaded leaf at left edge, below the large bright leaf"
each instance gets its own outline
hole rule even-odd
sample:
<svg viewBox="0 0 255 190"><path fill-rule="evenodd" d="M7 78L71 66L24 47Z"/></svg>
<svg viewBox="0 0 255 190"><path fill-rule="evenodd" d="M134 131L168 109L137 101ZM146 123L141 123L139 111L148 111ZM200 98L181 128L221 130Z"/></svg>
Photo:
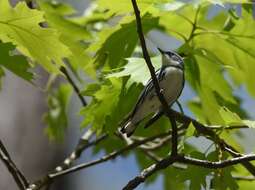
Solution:
<svg viewBox="0 0 255 190"><path fill-rule="evenodd" d="M11 55L11 51L14 51L14 49L15 47L10 43L0 42L0 68L5 68L24 80L32 81L33 73L29 71L29 69L31 69L31 65L28 64L24 56ZM0 74L0 76L1 75L2 74Z"/></svg>

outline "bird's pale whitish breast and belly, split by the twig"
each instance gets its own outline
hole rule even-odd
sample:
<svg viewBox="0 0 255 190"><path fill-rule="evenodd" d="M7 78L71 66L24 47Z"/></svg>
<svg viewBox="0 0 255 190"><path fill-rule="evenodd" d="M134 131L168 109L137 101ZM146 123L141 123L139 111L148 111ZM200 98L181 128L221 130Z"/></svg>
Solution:
<svg viewBox="0 0 255 190"><path fill-rule="evenodd" d="M183 71L176 67L165 68L165 76L159 82L160 88L163 90L163 95L169 105L173 104L183 89ZM139 122L150 113L154 113L161 108L161 103L158 100L155 89L148 92L143 103L137 109L133 122Z"/></svg>

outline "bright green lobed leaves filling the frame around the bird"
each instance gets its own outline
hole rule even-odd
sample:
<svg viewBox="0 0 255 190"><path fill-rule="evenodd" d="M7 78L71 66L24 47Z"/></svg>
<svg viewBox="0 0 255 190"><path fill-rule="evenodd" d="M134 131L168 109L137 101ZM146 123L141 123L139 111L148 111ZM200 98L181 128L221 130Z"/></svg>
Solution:
<svg viewBox="0 0 255 190"><path fill-rule="evenodd" d="M115 131L150 77L141 56L131 2L96 0L78 16L67 4L39 0L37 6L38 10L32 10L20 2L12 7L8 0L0 0L0 77L4 76L4 70L9 70L33 83L34 67L43 67L49 73L50 86L47 89L49 111L44 117L49 126L46 131L52 139L63 139L72 89L70 84L52 83L62 77L60 67L66 67L84 87L81 94L90 100L80 110L84 117L81 127L91 126L97 135L110 136L108 143L97 146L95 152L121 147L122 140L115 136ZM255 124L243 108L244 100L236 89L245 89L243 93L255 97L252 4L237 0L189 3L140 0L138 6L148 44L155 42L149 34L152 30L180 43L175 51L184 55L186 86L195 94L188 102L182 102L185 110L243 150L238 143L242 132L239 126L254 128ZM167 48L173 49L173 42L169 43ZM157 42L151 43L150 49L152 62L158 69L161 57L153 51L156 46L159 46ZM92 82L88 84L84 75ZM169 130L165 117L146 130L142 127L144 123L140 125L135 133L139 138ZM194 134L191 123L179 138L179 151L213 161L227 158L212 142L206 150L201 150L199 143L194 145L202 138ZM164 145L154 153L164 157L170 151ZM142 168L152 162L140 150L133 153ZM246 174L239 166L220 170L188 166L166 169L162 175L165 189L252 188L253 183L235 181L236 173Z"/></svg>

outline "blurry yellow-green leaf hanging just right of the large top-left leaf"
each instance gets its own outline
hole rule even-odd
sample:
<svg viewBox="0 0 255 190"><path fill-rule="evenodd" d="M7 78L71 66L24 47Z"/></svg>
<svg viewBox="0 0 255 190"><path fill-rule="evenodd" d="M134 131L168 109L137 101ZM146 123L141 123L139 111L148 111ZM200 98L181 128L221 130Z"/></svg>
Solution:
<svg viewBox="0 0 255 190"><path fill-rule="evenodd" d="M56 5L53 2L40 2L39 5L40 8L45 11L49 26L57 29L60 33L60 41L68 46L69 50L72 52L66 57L72 68L75 71L83 69L89 76L95 78L96 71L94 65L90 62L90 56L86 53L87 47L84 45L84 41L88 41L91 35L86 27L73 22L67 17L75 12L71 12L71 8L70 10L64 11L64 7L67 7L67 5L62 3ZM63 7L63 10L60 9L61 7Z"/></svg>

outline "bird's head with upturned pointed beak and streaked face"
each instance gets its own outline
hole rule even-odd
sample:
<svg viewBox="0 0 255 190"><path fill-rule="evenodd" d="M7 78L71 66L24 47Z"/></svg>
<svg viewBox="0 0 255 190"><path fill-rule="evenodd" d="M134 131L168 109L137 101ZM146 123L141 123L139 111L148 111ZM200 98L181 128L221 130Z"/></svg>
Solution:
<svg viewBox="0 0 255 190"><path fill-rule="evenodd" d="M178 66L184 68L183 58L174 51L164 51L158 48L162 54L162 66Z"/></svg>

